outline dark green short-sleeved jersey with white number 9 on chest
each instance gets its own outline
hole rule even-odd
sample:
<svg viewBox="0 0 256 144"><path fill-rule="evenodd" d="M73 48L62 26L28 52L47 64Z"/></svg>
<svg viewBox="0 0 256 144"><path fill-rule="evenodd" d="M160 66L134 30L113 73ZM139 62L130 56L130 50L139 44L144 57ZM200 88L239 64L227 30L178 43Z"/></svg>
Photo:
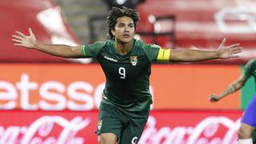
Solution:
<svg viewBox="0 0 256 144"><path fill-rule="evenodd" d="M152 103L150 66L158 59L159 46L133 40L130 51L121 55L115 42L95 42L82 47L86 58L96 58L106 76L102 102L129 111L140 111Z"/></svg>

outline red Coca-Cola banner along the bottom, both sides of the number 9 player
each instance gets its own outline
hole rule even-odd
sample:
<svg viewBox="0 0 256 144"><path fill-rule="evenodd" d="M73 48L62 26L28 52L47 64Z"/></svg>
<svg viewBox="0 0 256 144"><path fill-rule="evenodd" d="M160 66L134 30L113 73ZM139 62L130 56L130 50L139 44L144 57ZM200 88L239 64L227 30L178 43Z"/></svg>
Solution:
<svg viewBox="0 0 256 144"><path fill-rule="evenodd" d="M236 143L242 111L154 110L139 144ZM98 110L0 111L0 143L97 143Z"/></svg>

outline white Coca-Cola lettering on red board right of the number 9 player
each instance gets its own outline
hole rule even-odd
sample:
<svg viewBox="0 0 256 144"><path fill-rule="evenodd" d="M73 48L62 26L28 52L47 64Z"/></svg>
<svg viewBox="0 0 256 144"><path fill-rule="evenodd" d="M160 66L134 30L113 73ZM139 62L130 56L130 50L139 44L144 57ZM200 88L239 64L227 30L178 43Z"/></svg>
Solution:
<svg viewBox="0 0 256 144"><path fill-rule="evenodd" d="M157 119L150 116L139 144L235 144L240 118L235 122L225 116L208 117L196 126L162 126L156 128ZM226 129L225 134L218 134Z"/></svg>

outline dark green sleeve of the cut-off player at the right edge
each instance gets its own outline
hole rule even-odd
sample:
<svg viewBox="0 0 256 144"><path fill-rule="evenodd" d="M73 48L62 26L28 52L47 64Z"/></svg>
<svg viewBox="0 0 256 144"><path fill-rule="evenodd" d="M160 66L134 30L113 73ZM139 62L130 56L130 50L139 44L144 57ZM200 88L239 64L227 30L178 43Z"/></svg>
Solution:
<svg viewBox="0 0 256 144"><path fill-rule="evenodd" d="M256 83L256 58L251 59L249 62L246 63L246 66L244 66L243 68L242 74L246 78L246 80L250 78L250 76L254 76L254 81Z"/></svg>

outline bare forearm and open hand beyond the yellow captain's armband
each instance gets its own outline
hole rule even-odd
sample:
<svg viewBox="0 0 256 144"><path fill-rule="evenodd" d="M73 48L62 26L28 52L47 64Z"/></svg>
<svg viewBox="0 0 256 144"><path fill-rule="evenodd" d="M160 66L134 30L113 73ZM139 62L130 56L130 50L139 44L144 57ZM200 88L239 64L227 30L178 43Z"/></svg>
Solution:
<svg viewBox="0 0 256 144"><path fill-rule="evenodd" d="M225 46L226 38L218 47L218 50L171 50L170 61L174 62L196 62L216 58L238 58L238 53L242 52L239 44Z"/></svg>

